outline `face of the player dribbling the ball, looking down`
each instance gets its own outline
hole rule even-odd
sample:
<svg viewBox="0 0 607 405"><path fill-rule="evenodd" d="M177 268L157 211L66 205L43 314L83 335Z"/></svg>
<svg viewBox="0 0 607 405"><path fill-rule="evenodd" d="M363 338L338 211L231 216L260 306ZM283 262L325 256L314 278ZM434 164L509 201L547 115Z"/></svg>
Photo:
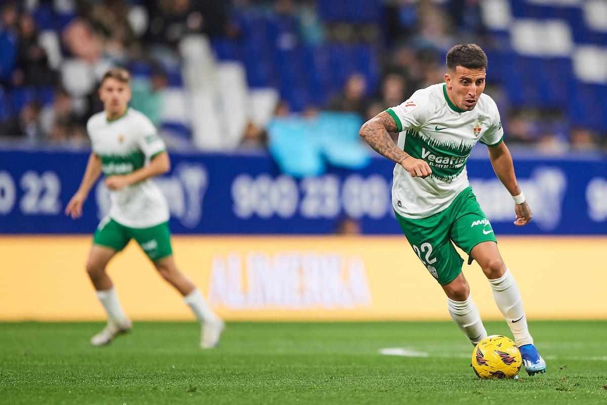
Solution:
<svg viewBox="0 0 607 405"><path fill-rule="evenodd" d="M447 94L456 107L470 111L478 103L478 98L485 89L486 69L466 69L456 66L455 71L449 70L445 75Z"/></svg>

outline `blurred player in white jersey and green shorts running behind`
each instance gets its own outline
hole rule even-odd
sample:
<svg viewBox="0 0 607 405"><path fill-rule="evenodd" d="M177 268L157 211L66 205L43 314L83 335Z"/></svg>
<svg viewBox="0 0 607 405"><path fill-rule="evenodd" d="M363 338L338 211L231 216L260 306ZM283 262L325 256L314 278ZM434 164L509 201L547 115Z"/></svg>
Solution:
<svg viewBox="0 0 607 405"><path fill-rule="evenodd" d="M106 345L131 329L131 321L118 301L106 266L135 239L161 276L184 296L202 324L201 347L211 348L219 342L223 322L175 265L168 204L151 180L169 171L169 155L154 124L129 107L129 81L129 72L120 68L111 69L103 76L99 97L104 111L90 117L87 123L92 152L80 188L66 208L67 215L74 219L80 217L84 200L103 171L112 206L95 231L86 270L107 313L107 325L90 342L94 346Z"/></svg>

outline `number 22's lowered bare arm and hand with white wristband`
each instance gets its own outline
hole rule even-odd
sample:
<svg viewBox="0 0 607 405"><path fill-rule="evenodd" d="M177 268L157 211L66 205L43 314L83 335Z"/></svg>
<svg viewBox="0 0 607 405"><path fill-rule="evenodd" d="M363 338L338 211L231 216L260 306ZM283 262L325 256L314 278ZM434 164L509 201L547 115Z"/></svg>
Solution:
<svg viewBox="0 0 607 405"><path fill-rule="evenodd" d="M499 145L489 146L488 149L489 160L493 166L493 171L495 171L497 178L500 179L500 182L506 187L510 196L518 196L518 194L521 194L521 189L518 187L517 176L514 174L512 155L510 155L510 151L506 145L501 142ZM529 204L527 204L526 201L522 204L515 204L514 212L516 214L514 225L517 226L527 225L533 216L531 208L529 208Z"/></svg>

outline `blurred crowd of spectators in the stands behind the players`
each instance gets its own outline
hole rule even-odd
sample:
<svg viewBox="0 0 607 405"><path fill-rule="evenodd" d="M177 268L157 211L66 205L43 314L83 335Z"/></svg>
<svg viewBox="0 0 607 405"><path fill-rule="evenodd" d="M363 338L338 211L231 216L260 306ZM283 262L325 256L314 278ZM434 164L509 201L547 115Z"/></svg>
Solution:
<svg viewBox="0 0 607 405"><path fill-rule="evenodd" d="M136 7L126 0L5 0L0 11L0 94L5 95L0 134L26 143L86 145L86 121L101 110L98 78L110 66L137 61L152 66L152 72L134 81L132 105L158 124L160 90L169 86L171 69L178 69L183 56L179 39L192 32L237 38L241 33L232 13L260 7L296 15L303 41L365 41L376 43L380 52L381 80L375 87L365 75L353 73L325 105L293 112L282 100L276 117L295 114L310 120L317 111L328 110L354 112L364 121L416 89L442 82L444 54L453 44L492 41L478 3L385 0L385 24L357 26L323 23L311 0L150 0L134 2ZM52 7L61 17L52 22L58 35L49 36L38 26L33 12L39 7ZM491 82L486 92L500 107L508 145L534 146L546 154L607 149L607 134L570 122L559 109L512 105L504 89ZM267 144L266 128L248 123L240 148L265 149Z"/></svg>

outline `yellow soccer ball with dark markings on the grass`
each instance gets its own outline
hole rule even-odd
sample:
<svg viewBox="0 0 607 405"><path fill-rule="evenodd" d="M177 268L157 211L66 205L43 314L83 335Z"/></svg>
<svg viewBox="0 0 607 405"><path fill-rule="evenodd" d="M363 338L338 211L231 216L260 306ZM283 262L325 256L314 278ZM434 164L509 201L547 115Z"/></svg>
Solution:
<svg viewBox="0 0 607 405"><path fill-rule="evenodd" d="M506 336L489 336L472 351L472 369L479 378L514 378L521 364L517 345Z"/></svg>

